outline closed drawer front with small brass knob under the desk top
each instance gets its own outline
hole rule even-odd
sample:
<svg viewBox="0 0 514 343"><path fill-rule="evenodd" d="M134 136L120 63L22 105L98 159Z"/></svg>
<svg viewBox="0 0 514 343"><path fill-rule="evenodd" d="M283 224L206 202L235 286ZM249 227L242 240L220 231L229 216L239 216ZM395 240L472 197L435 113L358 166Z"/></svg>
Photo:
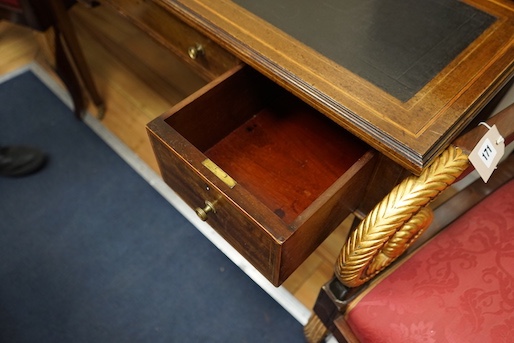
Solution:
<svg viewBox="0 0 514 343"><path fill-rule="evenodd" d="M158 42L211 80L239 63L238 59L153 1L104 0Z"/></svg>

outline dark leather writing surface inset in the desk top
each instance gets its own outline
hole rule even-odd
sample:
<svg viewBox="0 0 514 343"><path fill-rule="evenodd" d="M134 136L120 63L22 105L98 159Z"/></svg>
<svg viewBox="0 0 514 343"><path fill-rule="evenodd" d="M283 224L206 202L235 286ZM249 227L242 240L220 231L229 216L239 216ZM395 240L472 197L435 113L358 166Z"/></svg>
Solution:
<svg viewBox="0 0 514 343"><path fill-rule="evenodd" d="M457 0L233 0L407 101L495 18Z"/></svg>

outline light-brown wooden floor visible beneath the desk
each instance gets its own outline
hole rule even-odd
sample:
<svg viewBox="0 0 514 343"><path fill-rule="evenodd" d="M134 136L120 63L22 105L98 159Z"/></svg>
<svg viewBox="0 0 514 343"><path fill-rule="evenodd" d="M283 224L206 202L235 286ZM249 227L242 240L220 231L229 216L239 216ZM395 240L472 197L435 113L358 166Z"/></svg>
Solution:
<svg viewBox="0 0 514 343"><path fill-rule="evenodd" d="M70 11L93 78L106 104L102 124L158 172L145 125L205 84L168 50L111 9L80 4ZM45 64L41 36L0 22L0 74L27 63ZM90 112L96 109L90 105ZM332 276L348 222L340 226L285 282L312 308L318 290Z"/></svg>

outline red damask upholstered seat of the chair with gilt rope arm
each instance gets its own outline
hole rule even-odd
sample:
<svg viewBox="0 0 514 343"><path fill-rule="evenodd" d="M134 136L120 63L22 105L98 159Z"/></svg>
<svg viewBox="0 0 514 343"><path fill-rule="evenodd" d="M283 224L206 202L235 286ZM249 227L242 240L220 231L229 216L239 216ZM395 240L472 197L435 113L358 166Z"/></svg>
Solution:
<svg viewBox="0 0 514 343"><path fill-rule="evenodd" d="M362 342L514 342L514 180L347 312Z"/></svg>

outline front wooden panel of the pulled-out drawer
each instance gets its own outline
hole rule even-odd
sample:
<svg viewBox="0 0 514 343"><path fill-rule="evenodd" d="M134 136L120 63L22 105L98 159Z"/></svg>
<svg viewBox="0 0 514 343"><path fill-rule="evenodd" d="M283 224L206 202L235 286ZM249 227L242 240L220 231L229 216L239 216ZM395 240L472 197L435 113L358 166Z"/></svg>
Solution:
<svg viewBox="0 0 514 343"><path fill-rule="evenodd" d="M279 262L280 249L275 239L261 223L232 203L230 195L226 194L228 186L216 178L210 180L205 176L209 171L194 162L201 158L187 148L187 142L180 142L181 137L156 121L148 125L148 132L164 181L192 209L204 207L206 200L214 203L216 212L207 213L209 225L261 274L270 281L276 280L275 266ZM163 140L163 137L166 139Z"/></svg>

